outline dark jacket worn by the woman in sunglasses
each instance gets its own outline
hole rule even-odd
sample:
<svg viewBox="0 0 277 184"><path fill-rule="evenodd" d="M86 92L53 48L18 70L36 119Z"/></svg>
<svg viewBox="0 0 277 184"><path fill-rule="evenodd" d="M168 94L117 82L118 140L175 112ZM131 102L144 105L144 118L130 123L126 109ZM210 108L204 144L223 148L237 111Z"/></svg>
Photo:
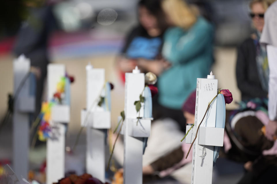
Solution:
<svg viewBox="0 0 277 184"><path fill-rule="evenodd" d="M242 100L255 97L267 97L259 80L256 63L256 46L254 40L246 39L237 51L237 86L242 93Z"/></svg>

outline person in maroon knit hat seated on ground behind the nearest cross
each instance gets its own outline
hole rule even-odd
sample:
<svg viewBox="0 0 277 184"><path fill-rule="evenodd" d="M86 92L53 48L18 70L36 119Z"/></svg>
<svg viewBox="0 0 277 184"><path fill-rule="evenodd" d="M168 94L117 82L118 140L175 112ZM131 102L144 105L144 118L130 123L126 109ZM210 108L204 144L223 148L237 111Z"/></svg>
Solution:
<svg viewBox="0 0 277 184"><path fill-rule="evenodd" d="M183 105L184 116L190 123L194 122L195 98L194 91ZM180 131L178 124L170 118L158 121L151 125L151 135L143 155L143 181L170 176L181 183L190 183L192 152L185 159L184 154L188 152L190 144L180 142L185 133ZM117 143L118 148L123 150L123 145ZM114 156L120 162L116 152ZM115 174L116 178L123 177L123 169L118 172L121 174Z"/></svg>

